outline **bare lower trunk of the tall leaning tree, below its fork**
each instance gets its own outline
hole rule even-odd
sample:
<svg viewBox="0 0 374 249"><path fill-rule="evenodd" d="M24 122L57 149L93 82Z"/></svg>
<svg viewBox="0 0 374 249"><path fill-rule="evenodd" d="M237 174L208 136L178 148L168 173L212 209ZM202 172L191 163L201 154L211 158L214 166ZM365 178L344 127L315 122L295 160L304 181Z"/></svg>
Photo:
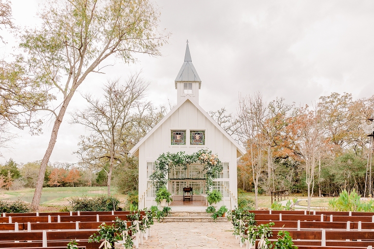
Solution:
<svg viewBox="0 0 374 249"><path fill-rule="evenodd" d="M55 147L56 140L57 140L57 133L58 130L60 129L60 125L62 123L62 119L65 115L66 109L69 105L70 100L72 99L74 95L75 89L71 90L69 95L66 96L64 99L64 102L62 103L61 109L56 117L55 124L53 125L52 133L51 133L51 138L49 140L48 148L44 154L43 160L41 160L41 165L40 165L40 170L39 174L37 176L37 185L35 188L35 193L33 197L33 201L31 203L31 209L33 211L38 211L39 210L39 203L40 203L40 198L41 198L41 190L43 188L43 182L44 182L44 175L45 171L47 169L47 164L49 162L49 158L51 157L51 154L53 152L53 148Z"/></svg>

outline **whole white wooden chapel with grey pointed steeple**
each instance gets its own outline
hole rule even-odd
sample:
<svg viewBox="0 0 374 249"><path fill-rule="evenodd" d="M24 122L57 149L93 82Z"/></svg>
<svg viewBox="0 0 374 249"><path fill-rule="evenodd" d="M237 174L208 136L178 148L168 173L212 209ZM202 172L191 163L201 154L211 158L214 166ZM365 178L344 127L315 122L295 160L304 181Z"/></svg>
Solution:
<svg viewBox="0 0 374 249"><path fill-rule="evenodd" d="M223 163L223 172L213 180L212 186L224 197L218 206L225 205L231 209L237 206L237 158L245 150L199 105L201 84L187 41L185 59L175 79L177 105L130 151L139 158L139 209L157 205L155 187L149 177L160 154L180 151L191 154L201 149L217 154ZM206 179L202 169L200 164L191 164L187 170L174 168L169 172L167 188L172 194L172 209L176 203L177 206L187 205L182 201L184 187L193 189L193 202L205 205ZM196 206L195 203L190 206L191 209Z"/></svg>

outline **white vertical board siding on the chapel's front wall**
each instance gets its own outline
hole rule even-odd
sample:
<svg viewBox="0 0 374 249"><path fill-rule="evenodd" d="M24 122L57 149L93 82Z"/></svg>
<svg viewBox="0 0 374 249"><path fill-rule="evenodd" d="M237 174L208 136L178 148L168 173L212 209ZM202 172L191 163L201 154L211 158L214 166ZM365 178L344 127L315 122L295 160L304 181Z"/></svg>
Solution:
<svg viewBox="0 0 374 249"><path fill-rule="evenodd" d="M171 145L171 130L187 130L186 145ZM189 145L189 130L205 130L205 145ZM139 197L147 190L147 162L154 162L162 153L185 151L187 154L207 148L218 154L222 162L229 163L230 191L237 193L237 148L209 119L189 100L185 101L139 147ZM230 206L228 197L221 205ZM157 205L152 197L146 197L145 207ZM236 203L231 200L231 208ZM144 208L144 202L139 203Z"/></svg>

